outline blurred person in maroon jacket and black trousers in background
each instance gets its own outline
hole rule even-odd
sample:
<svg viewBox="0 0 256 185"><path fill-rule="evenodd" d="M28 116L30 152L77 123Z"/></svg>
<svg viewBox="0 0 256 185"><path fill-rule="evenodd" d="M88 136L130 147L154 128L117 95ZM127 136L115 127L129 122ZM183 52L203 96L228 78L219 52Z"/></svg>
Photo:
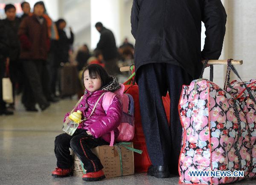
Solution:
<svg viewBox="0 0 256 185"><path fill-rule="evenodd" d="M24 71L29 80L29 83L25 84L25 88L27 92L30 92L29 88L32 90L32 95L25 102L28 111L36 111L36 102L41 110L49 106L44 96L41 80L49 51L47 23L42 17L43 14L44 5L41 2L35 3L34 14L23 19L18 31L21 43L20 59L23 60Z"/></svg>

